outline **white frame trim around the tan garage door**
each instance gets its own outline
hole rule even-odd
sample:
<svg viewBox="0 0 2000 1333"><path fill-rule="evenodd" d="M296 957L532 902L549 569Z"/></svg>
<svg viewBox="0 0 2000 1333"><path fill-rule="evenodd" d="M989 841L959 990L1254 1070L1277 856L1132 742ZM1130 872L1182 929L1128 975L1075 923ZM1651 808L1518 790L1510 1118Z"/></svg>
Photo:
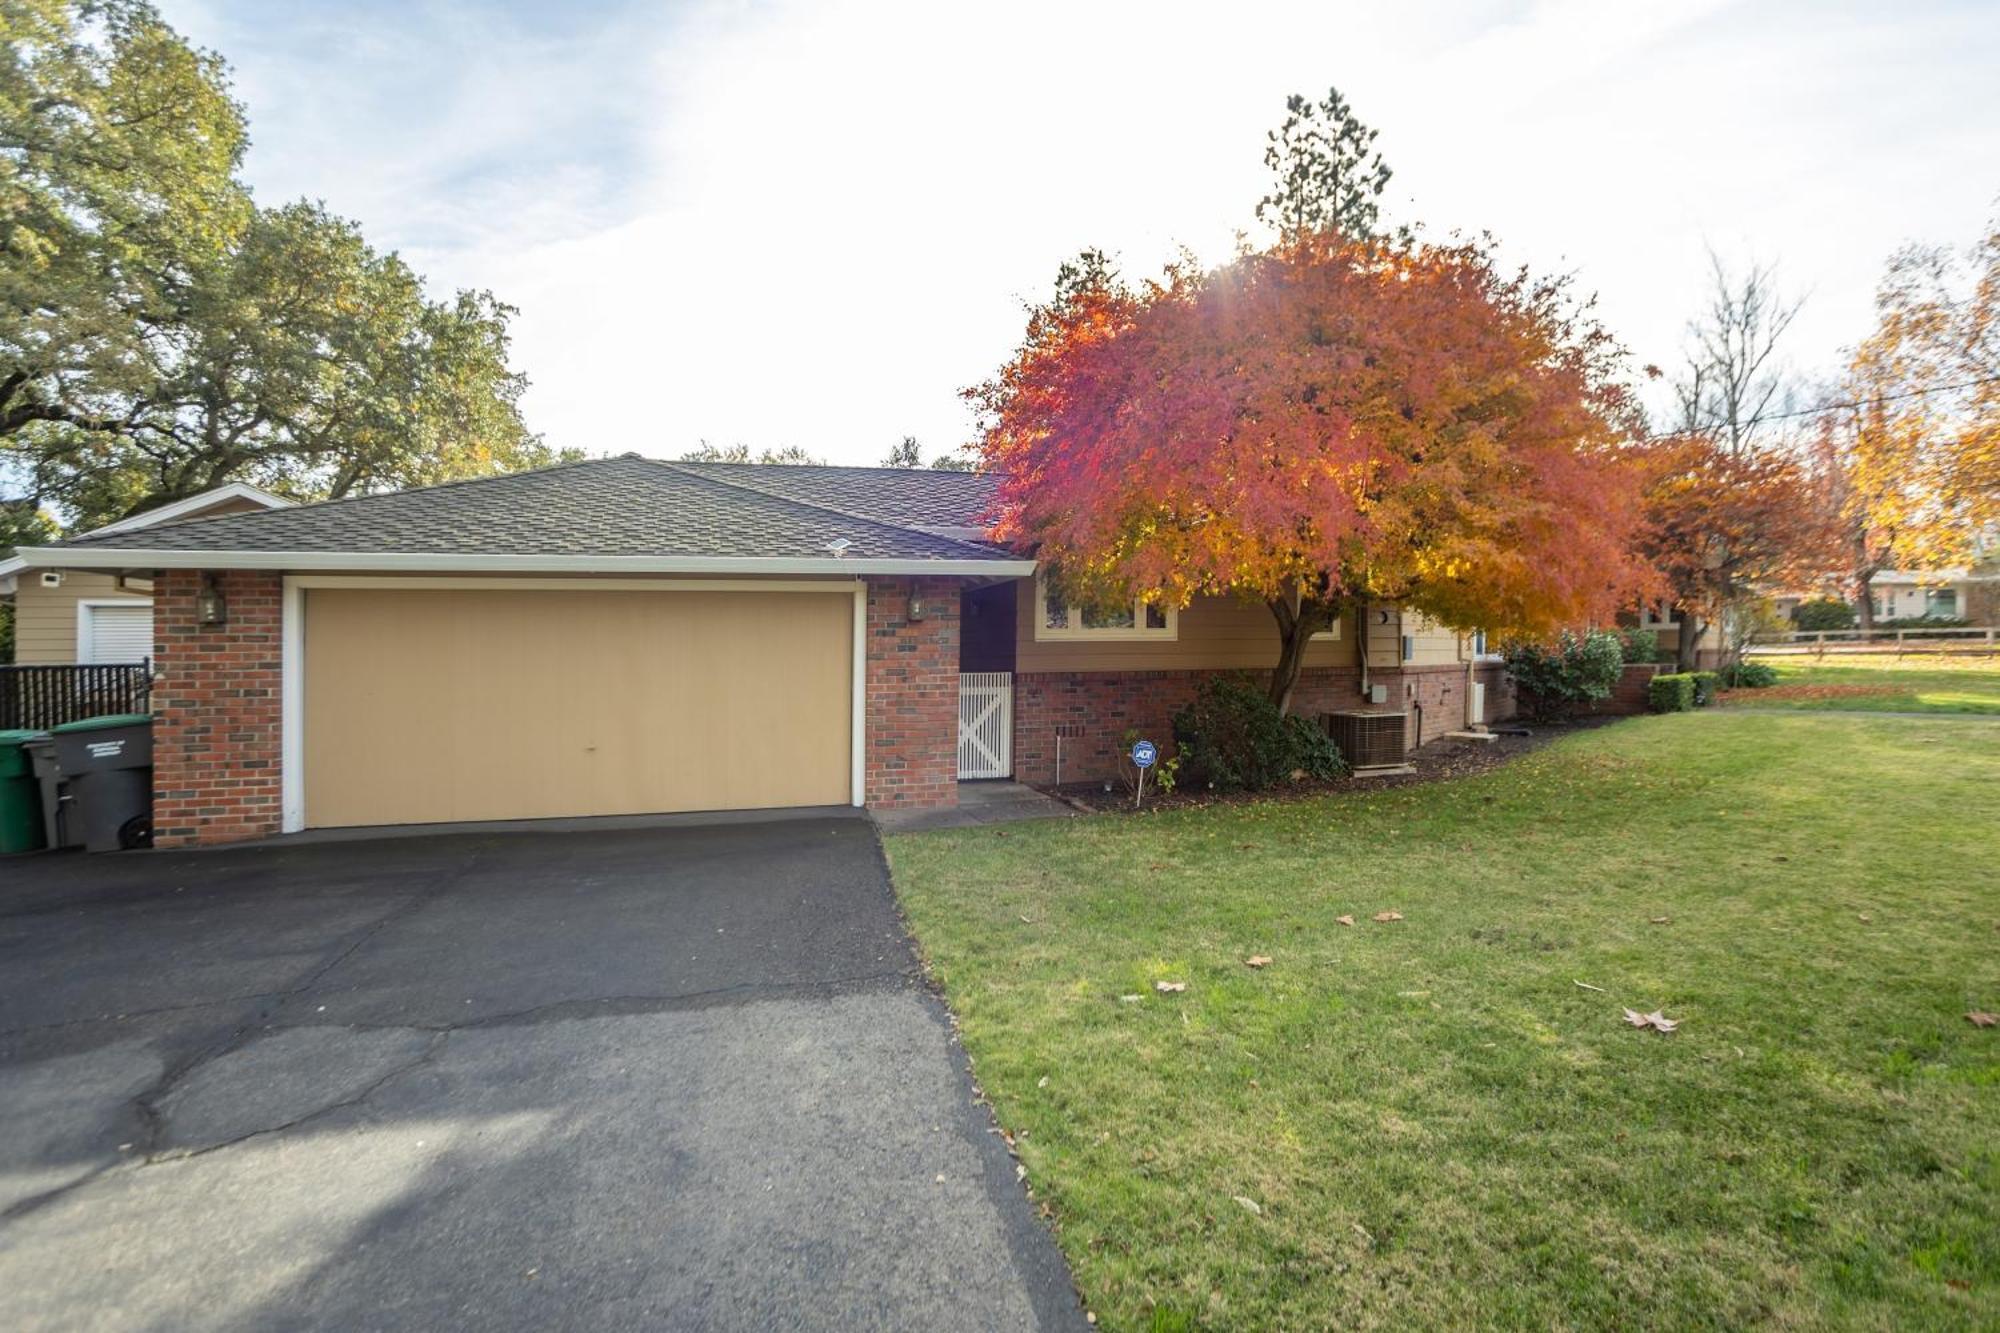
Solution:
<svg viewBox="0 0 2000 1333"><path fill-rule="evenodd" d="M282 829L306 827L306 590L380 588L384 592L454 588L488 592L846 592L854 598L854 701L850 805L868 793L868 584L860 578L382 578L370 574L286 574L282 602L280 807Z"/></svg>

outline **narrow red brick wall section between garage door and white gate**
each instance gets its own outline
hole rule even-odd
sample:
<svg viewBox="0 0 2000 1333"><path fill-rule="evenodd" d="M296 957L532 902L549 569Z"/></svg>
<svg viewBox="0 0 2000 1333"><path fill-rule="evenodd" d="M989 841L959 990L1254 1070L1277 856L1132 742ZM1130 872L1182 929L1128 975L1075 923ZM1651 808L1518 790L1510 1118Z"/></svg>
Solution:
<svg viewBox="0 0 2000 1333"><path fill-rule="evenodd" d="M958 578L868 580L868 805L958 805ZM910 618L910 594L924 618Z"/></svg>

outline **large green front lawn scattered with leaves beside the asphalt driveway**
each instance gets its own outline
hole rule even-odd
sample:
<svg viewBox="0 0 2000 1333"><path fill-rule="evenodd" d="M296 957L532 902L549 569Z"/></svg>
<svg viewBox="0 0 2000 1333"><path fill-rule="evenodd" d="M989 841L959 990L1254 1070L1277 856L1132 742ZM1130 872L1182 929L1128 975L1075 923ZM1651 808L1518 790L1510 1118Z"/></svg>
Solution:
<svg viewBox="0 0 2000 1333"><path fill-rule="evenodd" d="M1994 723L1692 713L888 853L1100 1327L1990 1329L1996 829Z"/></svg>

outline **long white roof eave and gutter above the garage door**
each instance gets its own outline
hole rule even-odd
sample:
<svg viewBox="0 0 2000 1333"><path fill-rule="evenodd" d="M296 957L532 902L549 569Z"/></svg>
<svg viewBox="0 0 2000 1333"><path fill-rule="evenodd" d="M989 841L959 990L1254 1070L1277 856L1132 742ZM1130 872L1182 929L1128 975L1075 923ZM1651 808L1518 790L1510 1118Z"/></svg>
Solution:
<svg viewBox="0 0 2000 1333"><path fill-rule="evenodd" d="M22 568L278 568L454 574L962 574L1026 578L1034 560L916 556L616 556L464 554L416 550L158 550L18 546Z"/></svg>

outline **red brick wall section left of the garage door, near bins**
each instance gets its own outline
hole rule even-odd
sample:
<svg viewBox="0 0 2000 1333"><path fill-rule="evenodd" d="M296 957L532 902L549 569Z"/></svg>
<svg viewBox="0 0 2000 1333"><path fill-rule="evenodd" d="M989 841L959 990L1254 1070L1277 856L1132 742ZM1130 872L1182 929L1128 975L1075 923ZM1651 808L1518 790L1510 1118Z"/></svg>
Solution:
<svg viewBox="0 0 2000 1333"><path fill-rule="evenodd" d="M152 590L156 847L266 837L282 821L284 578L218 572L228 624L196 622L200 586L200 570L174 568Z"/></svg>

